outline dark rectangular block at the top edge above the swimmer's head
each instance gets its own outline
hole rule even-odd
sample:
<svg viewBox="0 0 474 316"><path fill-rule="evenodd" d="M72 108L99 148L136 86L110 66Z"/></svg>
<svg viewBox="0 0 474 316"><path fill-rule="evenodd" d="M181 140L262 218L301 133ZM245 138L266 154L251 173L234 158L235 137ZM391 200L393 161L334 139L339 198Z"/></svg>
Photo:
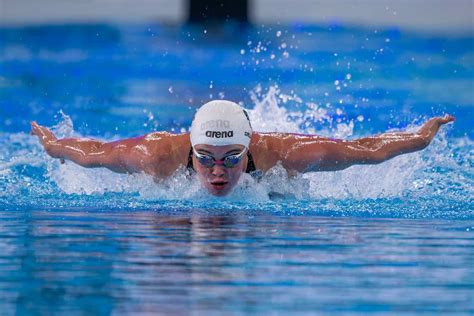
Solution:
<svg viewBox="0 0 474 316"><path fill-rule="evenodd" d="M188 22L248 22L249 0L188 0Z"/></svg>

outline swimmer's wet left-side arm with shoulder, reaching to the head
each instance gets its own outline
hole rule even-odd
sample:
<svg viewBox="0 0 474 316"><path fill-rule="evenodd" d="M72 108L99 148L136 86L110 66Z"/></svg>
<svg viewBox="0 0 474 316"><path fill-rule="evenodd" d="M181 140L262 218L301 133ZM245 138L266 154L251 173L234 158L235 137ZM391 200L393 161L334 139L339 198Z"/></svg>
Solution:
<svg viewBox="0 0 474 316"><path fill-rule="evenodd" d="M143 171L155 176L173 171L167 158L176 152L180 142L186 140L183 136L168 133L152 133L108 143L84 138L57 139L49 129L36 122L31 123L31 133L38 136L53 158L70 160L87 168L104 167L119 173Z"/></svg>

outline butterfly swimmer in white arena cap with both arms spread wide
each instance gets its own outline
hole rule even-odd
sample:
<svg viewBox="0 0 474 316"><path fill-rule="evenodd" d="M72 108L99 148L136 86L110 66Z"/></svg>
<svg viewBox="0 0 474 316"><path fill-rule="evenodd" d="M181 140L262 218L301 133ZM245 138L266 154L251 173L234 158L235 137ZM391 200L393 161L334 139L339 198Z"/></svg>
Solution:
<svg viewBox="0 0 474 316"><path fill-rule="evenodd" d="M378 164L428 146L441 125L454 117L434 117L416 133L384 133L355 140L316 135L259 133L238 104L218 100L197 112L190 133L154 132L140 137L101 142L57 139L46 127L31 123L45 151L53 158L87 168L119 173L144 172L160 180L186 167L215 196L228 194L242 173L262 174L281 164L289 175L335 171L356 164Z"/></svg>

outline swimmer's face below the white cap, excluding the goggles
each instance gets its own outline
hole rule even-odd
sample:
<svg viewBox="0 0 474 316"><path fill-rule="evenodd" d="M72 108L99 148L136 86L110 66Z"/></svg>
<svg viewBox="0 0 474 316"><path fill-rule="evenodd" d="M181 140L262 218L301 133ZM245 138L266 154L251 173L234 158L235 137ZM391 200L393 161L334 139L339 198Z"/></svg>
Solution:
<svg viewBox="0 0 474 316"><path fill-rule="evenodd" d="M240 154L245 147L242 145L196 145L194 149L200 155L211 156L216 160L223 160L229 155ZM243 159L233 168L227 168L222 164L214 164L212 167L206 167L193 155L193 166L198 174L199 181L209 193L216 196L224 196L237 184L240 176L247 167L247 155L244 153Z"/></svg>

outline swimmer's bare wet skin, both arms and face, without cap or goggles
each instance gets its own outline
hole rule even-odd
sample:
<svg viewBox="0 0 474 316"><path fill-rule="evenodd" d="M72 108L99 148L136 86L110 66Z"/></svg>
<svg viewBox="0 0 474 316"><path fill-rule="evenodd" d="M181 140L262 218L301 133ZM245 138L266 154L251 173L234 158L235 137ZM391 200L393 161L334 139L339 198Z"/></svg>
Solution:
<svg viewBox="0 0 474 316"><path fill-rule="evenodd" d="M249 144L255 167L267 172L281 163L289 175L301 172L343 170L356 164L377 164L395 156L422 150L430 144L439 128L454 117L434 117L414 133L384 133L353 140L317 135L253 132ZM144 172L165 179L186 166L191 142L189 133L154 132L147 135L101 142L93 139L57 139L46 127L31 123L45 151L61 161L69 160L87 168L103 167L114 172ZM197 145L198 152L221 160L241 152L241 145ZM206 168L193 155L193 165L202 185L213 195L228 194L247 167L247 156L234 168L215 165Z"/></svg>

